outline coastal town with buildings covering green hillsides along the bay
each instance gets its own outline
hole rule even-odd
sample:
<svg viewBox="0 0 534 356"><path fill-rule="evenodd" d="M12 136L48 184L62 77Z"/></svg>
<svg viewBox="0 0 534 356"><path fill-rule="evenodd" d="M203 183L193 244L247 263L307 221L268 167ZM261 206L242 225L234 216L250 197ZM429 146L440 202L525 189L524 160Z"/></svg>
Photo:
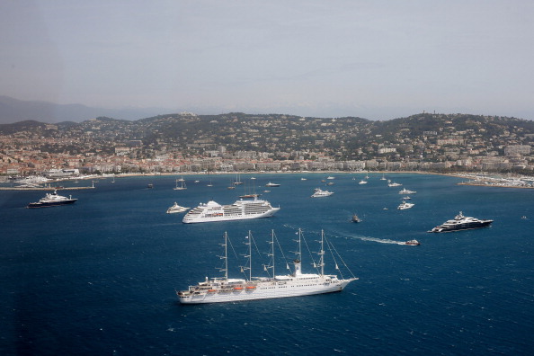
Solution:
<svg viewBox="0 0 534 356"><path fill-rule="evenodd" d="M481 174L532 175L533 141L533 121L465 114L371 121L182 112L136 121L22 121L0 125L0 174L7 182L30 175L377 171L476 174L468 181L489 184Z"/></svg>

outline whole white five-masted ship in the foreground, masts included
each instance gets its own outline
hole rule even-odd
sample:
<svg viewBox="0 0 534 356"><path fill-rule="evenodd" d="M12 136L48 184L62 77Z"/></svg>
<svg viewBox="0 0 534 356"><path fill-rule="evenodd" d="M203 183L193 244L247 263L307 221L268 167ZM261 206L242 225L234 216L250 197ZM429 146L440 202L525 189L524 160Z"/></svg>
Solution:
<svg viewBox="0 0 534 356"><path fill-rule="evenodd" d="M224 278L212 278L209 280L208 277L206 277L206 280L201 281L195 286L190 286L187 290L177 290L176 294L180 300L180 303L224 303L239 300L309 296L314 294L342 291L343 288L352 282L352 280L358 280L358 278L354 277L353 275L351 278L343 279L342 276L342 279L338 279L337 275L325 274L325 236L323 232L321 232L321 250L318 253L319 262L313 263L317 272L303 273L301 271L301 230L298 230L298 256L295 260L293 260L293 273L277 276L274 271L273 263L275 251L274 232L272 232L271 236L271 254L268 254L271 256L271 262L268 265L265 265L263 270L269 271L272 277L252 276L252 245L254 244L254 241L249 232L246 243L246 245L248 245L248 255L246 255L248 258L248 266L241 267L243 272L248 271L248 276L242 279L229 279L227 259L228 237L225 233L225 244L223 245L225 248L225 255L220 256L221 259L225 260L225 266L224 268L221 268L221 271L225 272ZM278 241L276 241L276 243L277 242ZM329 246L331 244L326 242L326 245ZM338 258L340 262L343 262L341 257L338 256ZM337 268L337 263L335 266ZM350 270L348 271L350 272Z"/></svg>

